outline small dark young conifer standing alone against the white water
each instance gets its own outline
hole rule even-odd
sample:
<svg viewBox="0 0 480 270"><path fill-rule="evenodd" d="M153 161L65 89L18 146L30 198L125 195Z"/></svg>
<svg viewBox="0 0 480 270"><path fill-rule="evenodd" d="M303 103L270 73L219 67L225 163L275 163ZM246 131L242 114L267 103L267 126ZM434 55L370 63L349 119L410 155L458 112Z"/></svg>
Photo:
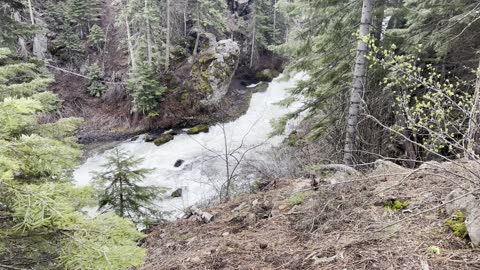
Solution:
<svg viewBox="0 0 480 270"><path fill-rule="evenodd" d="M162 189L154 186L141 186L139 183L152 172L139 168L143 162L128 153L115 148L102 165L103 171L94 173L96 187L102 190L99 210L114 211L121 217L128 217L135 222L158 220L158 211L152 209L159 199Z"/></svg>

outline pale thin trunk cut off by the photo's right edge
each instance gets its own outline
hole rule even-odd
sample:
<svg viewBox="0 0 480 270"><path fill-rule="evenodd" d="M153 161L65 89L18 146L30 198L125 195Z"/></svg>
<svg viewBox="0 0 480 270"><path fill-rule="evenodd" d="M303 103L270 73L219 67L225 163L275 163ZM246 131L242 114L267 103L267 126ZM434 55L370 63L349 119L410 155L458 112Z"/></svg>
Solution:
<svg viewBox="0 0 480 270"><path fill-rule="evenodd" d="M466 157L471 157L475 144L475 137L478 135L480 124L480 62L477 69L477 80L475 82L475 93L473 95L473 106L470 111L470 120L468 121L467 142L465 153Z"/></svg>

